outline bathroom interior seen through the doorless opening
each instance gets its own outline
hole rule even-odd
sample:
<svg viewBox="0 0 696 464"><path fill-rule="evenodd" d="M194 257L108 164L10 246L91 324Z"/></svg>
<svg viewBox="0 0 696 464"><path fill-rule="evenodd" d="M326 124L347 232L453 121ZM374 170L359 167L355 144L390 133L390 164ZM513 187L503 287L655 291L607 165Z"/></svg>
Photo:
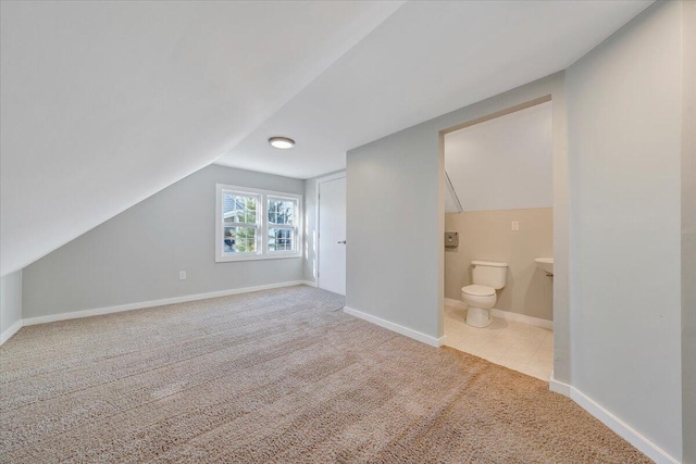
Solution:
<svg viewBox="0 0 696 464"><path fill-rule="evenodd" d="M446 344L545 381L554 353L551 161L550 101L445 135Z"/></svg>

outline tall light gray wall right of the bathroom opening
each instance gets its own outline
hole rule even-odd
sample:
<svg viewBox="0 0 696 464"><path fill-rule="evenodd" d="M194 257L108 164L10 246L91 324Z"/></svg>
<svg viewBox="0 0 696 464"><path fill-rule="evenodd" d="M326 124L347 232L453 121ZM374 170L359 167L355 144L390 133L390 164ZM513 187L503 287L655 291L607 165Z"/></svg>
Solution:
<svg viewBox="0 0 696 464"><path fill-rule="evenodd" d="M676 460L681 12L654 4L566 73L573 386Z"/></svg>

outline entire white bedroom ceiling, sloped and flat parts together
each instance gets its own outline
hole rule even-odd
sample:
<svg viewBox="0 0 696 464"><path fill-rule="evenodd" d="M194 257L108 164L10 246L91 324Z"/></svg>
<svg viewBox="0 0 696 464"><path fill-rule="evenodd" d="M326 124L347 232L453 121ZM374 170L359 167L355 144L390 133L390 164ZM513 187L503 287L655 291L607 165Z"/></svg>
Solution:
<svg viewBox="0 0 696 464"><path fill-rule="evenodd" d="M215 160L341 168L567 67L649 3L2 2L0 274Z"/></svg>

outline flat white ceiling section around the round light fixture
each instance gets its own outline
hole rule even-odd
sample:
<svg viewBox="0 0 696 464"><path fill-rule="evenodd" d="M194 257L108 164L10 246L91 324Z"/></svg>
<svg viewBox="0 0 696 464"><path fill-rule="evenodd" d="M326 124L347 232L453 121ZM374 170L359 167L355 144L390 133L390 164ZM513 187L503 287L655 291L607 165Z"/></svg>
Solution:
<svg viewBox="0 0 696 464"><path fill-rule="evenodd" d="M649 3L408 2L216 163L344 168L349 149L567 68ZM271 148L274 135L296 148Z"/></svg>

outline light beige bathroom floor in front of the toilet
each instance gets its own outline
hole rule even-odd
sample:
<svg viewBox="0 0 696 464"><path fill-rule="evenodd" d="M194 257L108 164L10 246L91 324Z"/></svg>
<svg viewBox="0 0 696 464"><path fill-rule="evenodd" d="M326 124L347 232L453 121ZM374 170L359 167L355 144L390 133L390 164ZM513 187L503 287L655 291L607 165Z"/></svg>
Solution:
<svg viewBox="0 0 696 464"><path fill-rule="evenodd" d="M554 366L554 331L494 317L486 328L468 326L467 310L445 306L446 344L548 381Z"/></svg>

